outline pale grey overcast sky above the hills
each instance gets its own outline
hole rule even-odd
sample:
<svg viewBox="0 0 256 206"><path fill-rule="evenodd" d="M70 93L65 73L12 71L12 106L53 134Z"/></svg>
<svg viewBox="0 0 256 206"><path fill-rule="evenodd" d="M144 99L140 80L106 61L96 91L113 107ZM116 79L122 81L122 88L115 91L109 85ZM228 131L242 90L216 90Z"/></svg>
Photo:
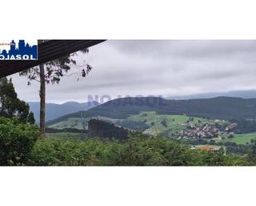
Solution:
<svg viewBox="0 0 256 206"><path fill-rule="evenodd" d="M89 63L91 73L48 85L46 102L256 89L256 41L105 41L77 61ZM38 83L27 86L26 77L17 74L12 82L19 98L39 101Z"/></svg>

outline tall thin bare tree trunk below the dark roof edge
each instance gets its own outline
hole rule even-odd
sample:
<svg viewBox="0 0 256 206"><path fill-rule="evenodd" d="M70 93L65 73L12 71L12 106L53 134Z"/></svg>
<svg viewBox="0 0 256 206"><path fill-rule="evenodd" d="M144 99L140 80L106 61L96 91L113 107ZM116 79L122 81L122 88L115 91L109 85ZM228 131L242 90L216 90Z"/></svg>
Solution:
<svg viewBox="0 0 256 206"><path fill-rule="evenodd" d="M40 132L41 138L45 137L46 132L46 79L44 65L40 68Z"/></svg>

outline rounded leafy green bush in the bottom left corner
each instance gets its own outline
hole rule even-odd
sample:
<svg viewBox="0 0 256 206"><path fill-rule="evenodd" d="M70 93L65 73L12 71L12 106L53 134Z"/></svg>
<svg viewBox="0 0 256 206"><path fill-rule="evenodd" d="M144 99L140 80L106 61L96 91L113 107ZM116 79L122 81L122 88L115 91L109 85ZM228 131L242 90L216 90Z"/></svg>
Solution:
<svg viewBox="0 0 256 206"><path fill-rule="evenodd" d="M0 165L24 165L40 133L17 118L0 117Z"/></svg>

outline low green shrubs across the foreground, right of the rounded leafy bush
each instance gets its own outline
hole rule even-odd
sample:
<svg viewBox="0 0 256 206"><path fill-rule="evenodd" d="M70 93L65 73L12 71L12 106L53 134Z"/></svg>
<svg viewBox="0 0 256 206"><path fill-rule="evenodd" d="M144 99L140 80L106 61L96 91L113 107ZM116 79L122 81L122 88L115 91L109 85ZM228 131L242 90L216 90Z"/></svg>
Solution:
<svg viewBox="0 0 256 206"><path fill-rule="evenodd" d="M135 134L127 141L36 141L28 165L249 165L241 156L191 150L180 141Z"/></svg>

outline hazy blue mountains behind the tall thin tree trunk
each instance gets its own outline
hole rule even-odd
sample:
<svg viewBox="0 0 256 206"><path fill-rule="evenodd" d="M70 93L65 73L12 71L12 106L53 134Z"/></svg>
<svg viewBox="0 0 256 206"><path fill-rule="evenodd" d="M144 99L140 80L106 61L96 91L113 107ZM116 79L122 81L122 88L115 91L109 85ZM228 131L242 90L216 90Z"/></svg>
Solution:
<svg viewBox="0 0 256 206"><path fill-rule="evenodd" d="M40 103L39 102L29 102L31 112L34 113L36 122L39 122L40 118ZM56 119L65 114L76 113L78 111L86 111L90 108L98 106L99 103L77 103L77 102L67 102L67 103L46 103L46 121Z"/></svg>

